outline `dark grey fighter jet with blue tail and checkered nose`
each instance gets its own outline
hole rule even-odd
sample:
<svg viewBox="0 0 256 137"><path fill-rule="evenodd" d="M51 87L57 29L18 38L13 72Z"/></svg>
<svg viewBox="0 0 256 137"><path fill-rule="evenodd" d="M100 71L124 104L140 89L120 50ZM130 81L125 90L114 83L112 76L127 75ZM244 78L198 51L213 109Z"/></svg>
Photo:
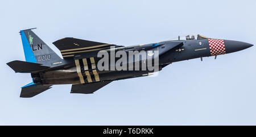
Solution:
<svg viewBox="0 0 256 137"><path fill-rule="evenodd" d="M126 47L76 38L63 38L53 42L63 56L61 59L31 31L32 29L34 28L19 32L26 61L15 60L7 63L15 72L31 73L32 82L23 86L20 93L20 97L23 98L34 97L50 89L52 85L59 84L72 84L71 93L91 94L112 81L149 76L176 61L195 58L203 60L203 57L208 56L215 56L216 59L217 55L237 52L253 46L253 44L241 41L212 39L202 35L187 35L184 38L178 36L177 39ZM118 51L122 53L112 56ZM130 59L123 54L129 54L131 51L132 57L135 55L139 57ZM142 51L146 53L146 59L141 56ZM104 54L99 56L99 53ZM102 63L101 59L104 57L109 58ZM154 64L157 68L142 69L143 64L148 67L146 61L150 57L155 59L151 61L151 64L158 62ZM120 61L121 58L123 59ZM119 67L127 69L115 68L117 63ZM107 67L102 69L99 64ZM139 69L135 69L136 67Z"/></svg>

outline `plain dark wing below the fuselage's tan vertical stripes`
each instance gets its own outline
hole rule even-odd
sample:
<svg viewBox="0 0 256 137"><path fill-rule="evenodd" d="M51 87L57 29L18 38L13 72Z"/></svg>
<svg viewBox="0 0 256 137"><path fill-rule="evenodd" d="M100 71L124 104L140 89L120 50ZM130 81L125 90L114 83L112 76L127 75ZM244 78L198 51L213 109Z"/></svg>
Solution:
<svg viewBox="0 0 256 137"><path fill-rule="evenodd" d="M103 86L108 85L110 82L112 81L72 85L71 93L92 94Z"/></svg>

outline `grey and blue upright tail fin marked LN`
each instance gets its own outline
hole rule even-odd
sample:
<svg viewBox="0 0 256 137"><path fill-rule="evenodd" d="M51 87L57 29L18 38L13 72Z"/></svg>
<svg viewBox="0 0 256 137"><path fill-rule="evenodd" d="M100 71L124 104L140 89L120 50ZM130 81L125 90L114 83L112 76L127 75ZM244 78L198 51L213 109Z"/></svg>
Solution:
<svg viewBox="0 0 256 137"><path fill-rule="evenodd" d="M26 61L51 66L53 62L61 58L48 47L43 40L31 31L34 28L20 31L22 38L23 50Z"/></svg>

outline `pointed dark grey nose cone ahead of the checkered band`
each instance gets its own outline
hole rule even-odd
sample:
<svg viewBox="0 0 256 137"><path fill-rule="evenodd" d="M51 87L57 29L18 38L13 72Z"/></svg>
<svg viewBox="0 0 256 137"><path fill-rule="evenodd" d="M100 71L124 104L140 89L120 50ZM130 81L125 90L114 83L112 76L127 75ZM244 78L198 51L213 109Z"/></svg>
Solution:
<svg viewBox="0 0 256 137"><path fill-rule="evenodd" d="M241 41L234 41L234 40L224 40L226 53L237 52L243 49L249 48L253 46L253 44L241 42Z"/></svg>

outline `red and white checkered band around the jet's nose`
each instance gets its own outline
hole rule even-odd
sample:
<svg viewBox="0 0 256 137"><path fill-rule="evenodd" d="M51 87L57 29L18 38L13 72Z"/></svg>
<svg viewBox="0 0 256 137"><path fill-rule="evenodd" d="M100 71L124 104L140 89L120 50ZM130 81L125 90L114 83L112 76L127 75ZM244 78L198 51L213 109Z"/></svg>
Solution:
<svg viewBox="0 0 256 137"><path fill-rule="evenodd" d="M208 39L210 47L210 56L216 56L226 53L224 40L221 39Z"/></svg>

